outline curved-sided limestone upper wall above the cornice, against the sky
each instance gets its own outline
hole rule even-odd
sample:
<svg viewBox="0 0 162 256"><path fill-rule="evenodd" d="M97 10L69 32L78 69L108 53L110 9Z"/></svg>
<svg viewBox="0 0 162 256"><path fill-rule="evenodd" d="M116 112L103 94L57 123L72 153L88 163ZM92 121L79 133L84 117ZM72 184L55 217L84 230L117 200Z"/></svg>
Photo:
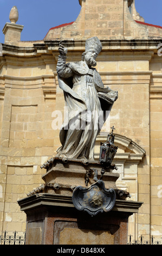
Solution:
<svg viewBox="0 0 162 256"><path fill-rule="evenodd" d="M144 20L139 19L135 5L130 12L128 0L82 0L81 5L72 25L50 29L44 40L81 40L91 36L98 36L100 40L130 40L162 35L162 29L135 21Z"/></svg>

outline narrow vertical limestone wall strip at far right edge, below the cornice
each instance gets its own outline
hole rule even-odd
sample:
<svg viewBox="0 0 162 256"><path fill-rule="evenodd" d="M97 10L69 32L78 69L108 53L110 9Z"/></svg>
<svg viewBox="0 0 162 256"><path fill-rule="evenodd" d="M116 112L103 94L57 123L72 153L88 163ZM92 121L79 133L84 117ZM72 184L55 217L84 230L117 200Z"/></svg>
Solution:
<svg viewBox="0 0 162 256"><path fill-rule="evenodd" d="M151 233L161 236L161 118L162 118L162 90L161 90L161 56L155 55L150 62L152 78L150 83L150 153L151 153Z"/></svg>

